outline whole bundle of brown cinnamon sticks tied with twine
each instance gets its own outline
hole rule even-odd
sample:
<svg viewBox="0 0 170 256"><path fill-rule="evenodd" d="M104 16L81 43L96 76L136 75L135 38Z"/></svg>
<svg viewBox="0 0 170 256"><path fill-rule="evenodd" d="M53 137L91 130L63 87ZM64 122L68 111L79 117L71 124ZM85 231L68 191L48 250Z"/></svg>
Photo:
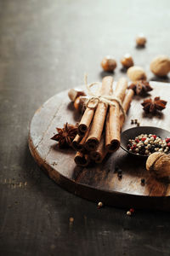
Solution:
<svg viewBox="0 0 170 256"><path fill-rule="evenodd" d="M88 166L91 160L101 163L106 154L120 147L124 113L130 107L133 90L127 90L127 79L124 78L118 80L115 90L112 86L113 78L107 76L99 90L100 96L111 96L111 104L99 101L96 108L87 107L82 115L78 134L72 142L77 151L77 166Z"/></svg>

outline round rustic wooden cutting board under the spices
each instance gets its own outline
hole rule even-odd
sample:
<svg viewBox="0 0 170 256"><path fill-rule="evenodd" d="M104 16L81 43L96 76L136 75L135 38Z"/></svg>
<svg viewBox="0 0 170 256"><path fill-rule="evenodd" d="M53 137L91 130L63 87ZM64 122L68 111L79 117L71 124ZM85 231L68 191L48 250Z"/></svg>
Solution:
<svg viewBox="0 0 170 256"><path fill-rule="evenodd" d="M150 82L154 90L150 96L161 96L167 101L167 108L162 113L151 117L144 114L144 98L135 96L127 113L127 120L122 131L134 127L131 119L138 119L140 125L170 129L170 84ZM145 162L130 156L122 148L106 157L99 165L88 167L76 166L73 149L59 149L50 138L56 133L56 127L63 127L68 122L77 123L80 116L74 110L68 96L62 91L51 97L37 110L31 120L29 147L31 154L42 169L48 172L63 188L90 201L102 201L105 205L116 207L135 207L158 210L170 210L170 184L158 182L145 170ZM119 180L115 166L122 169ZM141 178L145 185L141 185Z"/></svg>

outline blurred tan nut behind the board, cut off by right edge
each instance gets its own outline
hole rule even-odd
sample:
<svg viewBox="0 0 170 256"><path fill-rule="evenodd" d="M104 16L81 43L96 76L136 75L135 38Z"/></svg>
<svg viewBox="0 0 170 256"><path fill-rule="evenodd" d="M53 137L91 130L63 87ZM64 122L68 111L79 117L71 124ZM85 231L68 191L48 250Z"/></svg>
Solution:
<svg viewBox="0 0 170 256"><path fill-rule="evenodd" d="M156 76L164 77L170 72L170 58L166 55L158 55L150 63L150 70Z"/></svg>

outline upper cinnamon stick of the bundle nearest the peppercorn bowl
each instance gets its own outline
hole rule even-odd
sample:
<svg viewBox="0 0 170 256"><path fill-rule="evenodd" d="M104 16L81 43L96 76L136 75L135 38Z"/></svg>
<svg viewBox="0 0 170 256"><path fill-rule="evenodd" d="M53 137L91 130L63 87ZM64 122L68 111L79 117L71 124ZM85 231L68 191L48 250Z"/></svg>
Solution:
<svg viewBox="0 0 170 256"><path fill-rule="evenodd" d="M119 79L116 84L116 90L114 96L116 96L121 102L124 99L125 91L127 90L127 79ZM107 144L105 147L109 152L114 152L120 147L121 141L121 126L120 126L120 107L116 101L114 102L115 106L110 106L109 112L109 128L110 129L110 138L107 137Z"/></svg>

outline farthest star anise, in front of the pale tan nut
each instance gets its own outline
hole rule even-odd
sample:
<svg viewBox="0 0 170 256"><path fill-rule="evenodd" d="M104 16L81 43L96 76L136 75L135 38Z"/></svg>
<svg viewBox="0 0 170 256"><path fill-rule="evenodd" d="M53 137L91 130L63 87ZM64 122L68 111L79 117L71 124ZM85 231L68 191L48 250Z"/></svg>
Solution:
<svg viewBox="0 0 170 256"><path fill-rule="evenodd" d="M144 80L133 82L128 89L132 89L136 95L145 95L148 91L153 90L150 83Z"/></svg>

